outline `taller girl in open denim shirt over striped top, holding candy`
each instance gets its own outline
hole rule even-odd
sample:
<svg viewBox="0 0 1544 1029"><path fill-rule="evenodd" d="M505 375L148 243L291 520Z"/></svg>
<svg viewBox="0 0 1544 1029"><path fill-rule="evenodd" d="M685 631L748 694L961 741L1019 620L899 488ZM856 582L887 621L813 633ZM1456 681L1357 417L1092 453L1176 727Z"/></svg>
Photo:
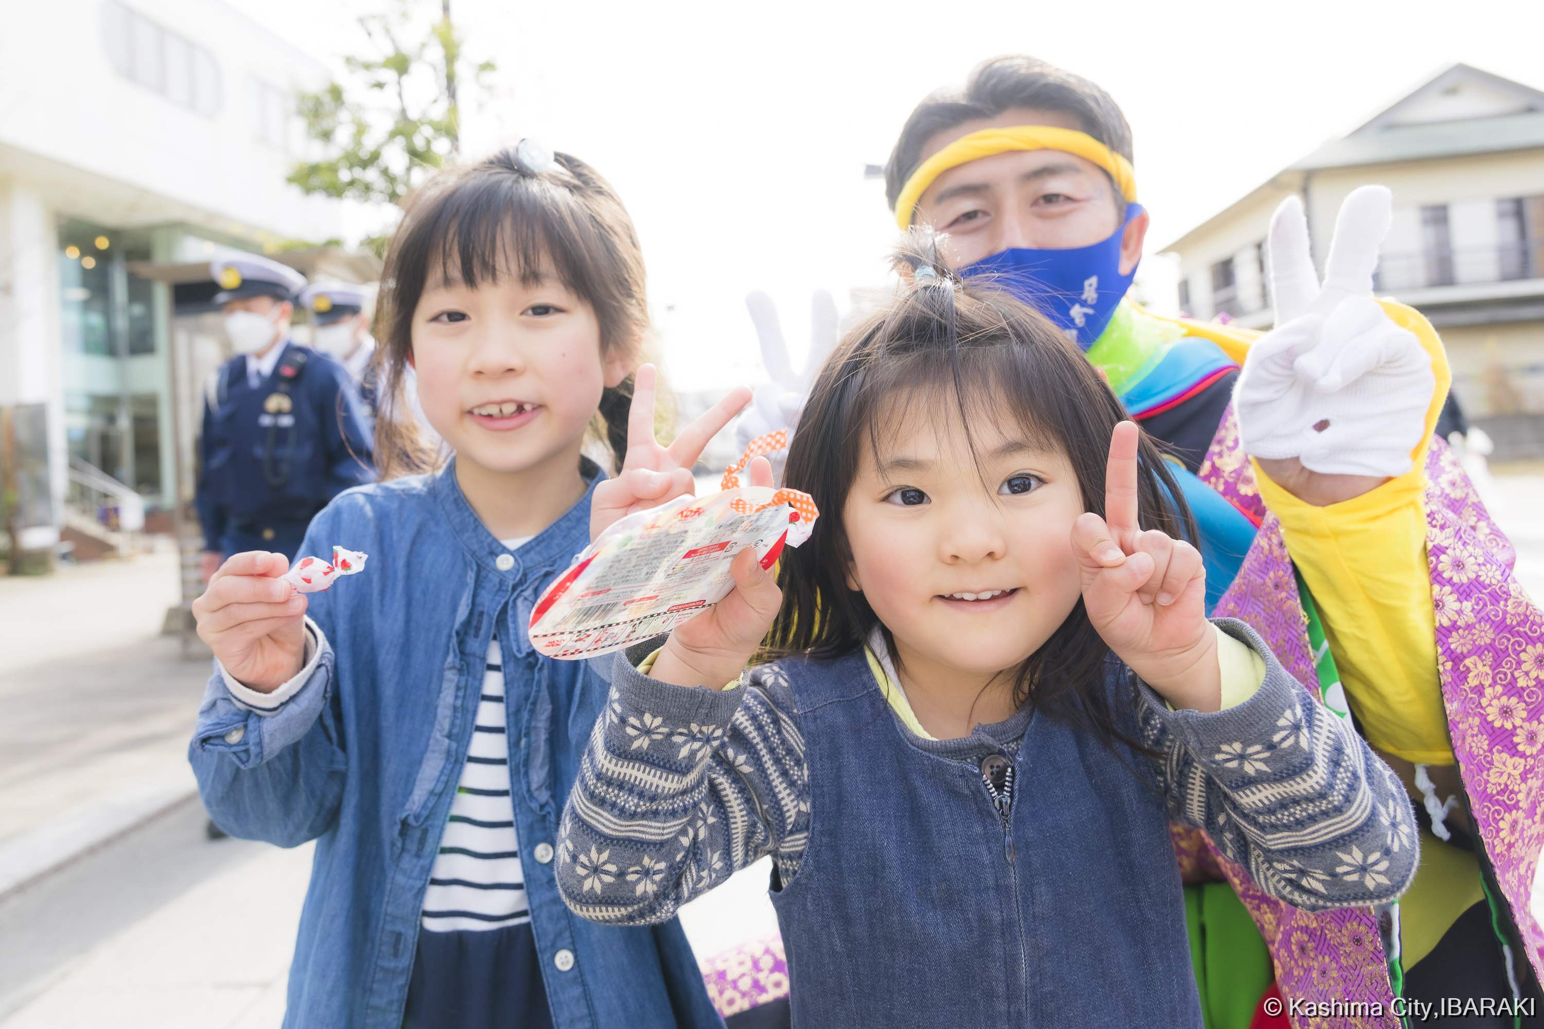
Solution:
<svg viewBox="0 0 1544 1029"><path fill-rule="evenodd" d="M284 555L236 554L195 603L218 659L191 744L204 804L233 836L317 841L284 1024L721 1026L676 921L588 924L553 875L605 683L525 626L588 541L605 477L585 450L625 449L648 322L627 211L525 140L418 190L380 302L389 481L334 500L301 548L364 552L363 574L307 597ZM408 367L448 450L403 415ZM631 494L679 492L747 396L669 450L648 432Z"/></svg>

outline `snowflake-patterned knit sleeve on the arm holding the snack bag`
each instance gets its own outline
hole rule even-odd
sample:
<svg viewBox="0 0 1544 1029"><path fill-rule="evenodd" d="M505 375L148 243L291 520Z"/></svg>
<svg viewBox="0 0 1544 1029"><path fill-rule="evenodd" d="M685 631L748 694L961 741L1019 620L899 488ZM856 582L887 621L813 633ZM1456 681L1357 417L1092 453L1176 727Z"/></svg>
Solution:
<svg viewBox="0 0 1544 1029"><path fill-rule="evenodd" d="M638 926L669 919L763 855L792 879L809 778L777 665L718 691L650 679L627 656L564 811L564 901L591 921Z"/></svg>

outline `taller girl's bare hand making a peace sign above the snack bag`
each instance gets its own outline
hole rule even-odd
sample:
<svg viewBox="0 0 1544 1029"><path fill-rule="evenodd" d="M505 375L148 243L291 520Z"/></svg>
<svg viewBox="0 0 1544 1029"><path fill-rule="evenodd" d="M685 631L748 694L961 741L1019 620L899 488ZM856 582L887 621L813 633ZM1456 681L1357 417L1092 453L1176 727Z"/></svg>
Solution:
<svg viewBox="0 0 1544 1029"><path fill-rule="evenodd" d="M696 492L692 466L703 455L703 447L750 400L750 390L736 386L682 429L675 443L664 447L655 440L656 381L658 372L653 364L638 366L633 375L633 406L627 413L627 457L616 478L594 488L590 501L591 540L613 521L635 511L658 508L676 497Z"/></svg>

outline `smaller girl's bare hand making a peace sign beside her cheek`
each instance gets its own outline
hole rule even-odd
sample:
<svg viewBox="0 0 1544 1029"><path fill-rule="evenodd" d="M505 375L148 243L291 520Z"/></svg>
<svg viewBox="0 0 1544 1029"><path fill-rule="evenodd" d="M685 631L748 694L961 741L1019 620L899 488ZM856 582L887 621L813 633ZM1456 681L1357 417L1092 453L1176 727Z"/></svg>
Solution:
<svg viewBox="0 0 1544 1029"><path fill-rule="evenodd" d="M1104 517L1084 512L1072 528L1084 609L1110 649L1173 707L1215 711L1221 673L1201 554L1138 525L1138 438L1135 423L1115 426Z"/></svg>

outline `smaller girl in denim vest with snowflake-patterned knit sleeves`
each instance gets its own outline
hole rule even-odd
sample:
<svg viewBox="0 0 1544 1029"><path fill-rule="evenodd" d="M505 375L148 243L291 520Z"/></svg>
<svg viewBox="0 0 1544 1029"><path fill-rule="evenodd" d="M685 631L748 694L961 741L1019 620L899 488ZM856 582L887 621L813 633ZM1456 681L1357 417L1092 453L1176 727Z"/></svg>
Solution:
<svg viewBox="0 0 1544 1029"><path fill-rule="evenodd" d="M801 415L786 484L821 515L781 592L740 555L616 660L564 899L652 924L772 855L795 1026L1200 1026L1170 819L1332 909L1410 882L1410 802L1206 620L1173 478L1076 347L926 241L906 272Z"/></svg>

